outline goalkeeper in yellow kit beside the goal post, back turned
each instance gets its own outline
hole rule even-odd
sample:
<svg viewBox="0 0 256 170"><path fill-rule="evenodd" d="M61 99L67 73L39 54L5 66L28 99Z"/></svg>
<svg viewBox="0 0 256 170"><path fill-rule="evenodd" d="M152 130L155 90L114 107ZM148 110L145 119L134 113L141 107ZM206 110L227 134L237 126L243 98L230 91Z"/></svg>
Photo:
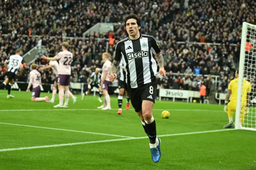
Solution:
<svg viewBox="0 0 256 170"><path fill-rule="evenodd" d="M233 122L233 112L236 111L236 97L237 97L237 90L238 90L238 72L239 70L236 70L235 73L235 79L230 81L228 85L228 93L226 95L225 99L225 106L224 106L224 111L228 113L228 120L229 123L224 126L224 128L232 128L234 127L234 122ZM251 85L248 81L243 79L243 85L242 85L242 100L241 100L241 112L240 112L240 123L243 126L244 124L244 114L249 112L248 108L248 93L252 91ZM229 98L231 96L231 99L229 101Z"/></svg>

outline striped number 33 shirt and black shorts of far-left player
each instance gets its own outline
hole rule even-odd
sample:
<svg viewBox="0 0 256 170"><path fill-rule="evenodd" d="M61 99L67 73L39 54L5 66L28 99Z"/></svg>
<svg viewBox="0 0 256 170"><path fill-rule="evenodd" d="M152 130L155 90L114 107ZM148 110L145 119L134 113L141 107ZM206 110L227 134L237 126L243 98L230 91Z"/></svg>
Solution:
<svg viewBox="0 0 256 170"><path fill-rule="evenodd" d="M8 69L7 69L7 77L9 81L14 80L15 75L18 73L20 69L20 65L23 64L25 61L23 58L18 55L11 55L8 62Z"/></svg>

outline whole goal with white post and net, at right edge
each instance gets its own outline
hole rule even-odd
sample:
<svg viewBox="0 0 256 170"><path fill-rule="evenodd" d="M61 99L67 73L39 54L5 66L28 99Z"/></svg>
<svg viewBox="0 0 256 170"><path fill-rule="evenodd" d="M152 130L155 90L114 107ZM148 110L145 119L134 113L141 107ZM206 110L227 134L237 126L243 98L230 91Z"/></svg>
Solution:
<svg viewBox="0 0 256 170"><path fill-rule="evenodd" d="M244 80L248 83L244 83ZM256 130L256 25L243 22L238 73L236 129ZM251 92L249 88L251 88ZM246 97L245 94L247 93Z"/></svg>

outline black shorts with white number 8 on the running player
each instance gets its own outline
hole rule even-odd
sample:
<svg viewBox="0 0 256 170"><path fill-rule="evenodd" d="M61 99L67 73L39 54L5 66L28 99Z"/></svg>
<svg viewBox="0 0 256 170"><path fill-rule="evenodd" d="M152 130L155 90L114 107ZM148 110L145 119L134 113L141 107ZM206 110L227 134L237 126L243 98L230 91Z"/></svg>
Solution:
<svg viewBox="0 0 256 170"><path fill-rule="evenodd" d="M136 112L142 110L143 100L148 100L155 103L157 90L157 83L155 81L144 84L143 86L137 88L130 88L128 86L127 90L131 99L132 106Z"/></svg>

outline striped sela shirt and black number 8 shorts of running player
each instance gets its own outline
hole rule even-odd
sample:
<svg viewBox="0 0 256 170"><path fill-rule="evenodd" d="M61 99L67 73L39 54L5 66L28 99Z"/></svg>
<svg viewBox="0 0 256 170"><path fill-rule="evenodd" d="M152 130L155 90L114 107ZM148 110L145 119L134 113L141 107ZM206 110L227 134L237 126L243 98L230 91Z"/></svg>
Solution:
<svg viewBox="0 0 256 170"><path fill-rule="evenodd" d="M155 102L157 65L153 54L160 53L154 37L140 34L137 40L125 38L116 44L116 61L122 61L131 103L136 112L141 111L142 101Z"/></svg>

